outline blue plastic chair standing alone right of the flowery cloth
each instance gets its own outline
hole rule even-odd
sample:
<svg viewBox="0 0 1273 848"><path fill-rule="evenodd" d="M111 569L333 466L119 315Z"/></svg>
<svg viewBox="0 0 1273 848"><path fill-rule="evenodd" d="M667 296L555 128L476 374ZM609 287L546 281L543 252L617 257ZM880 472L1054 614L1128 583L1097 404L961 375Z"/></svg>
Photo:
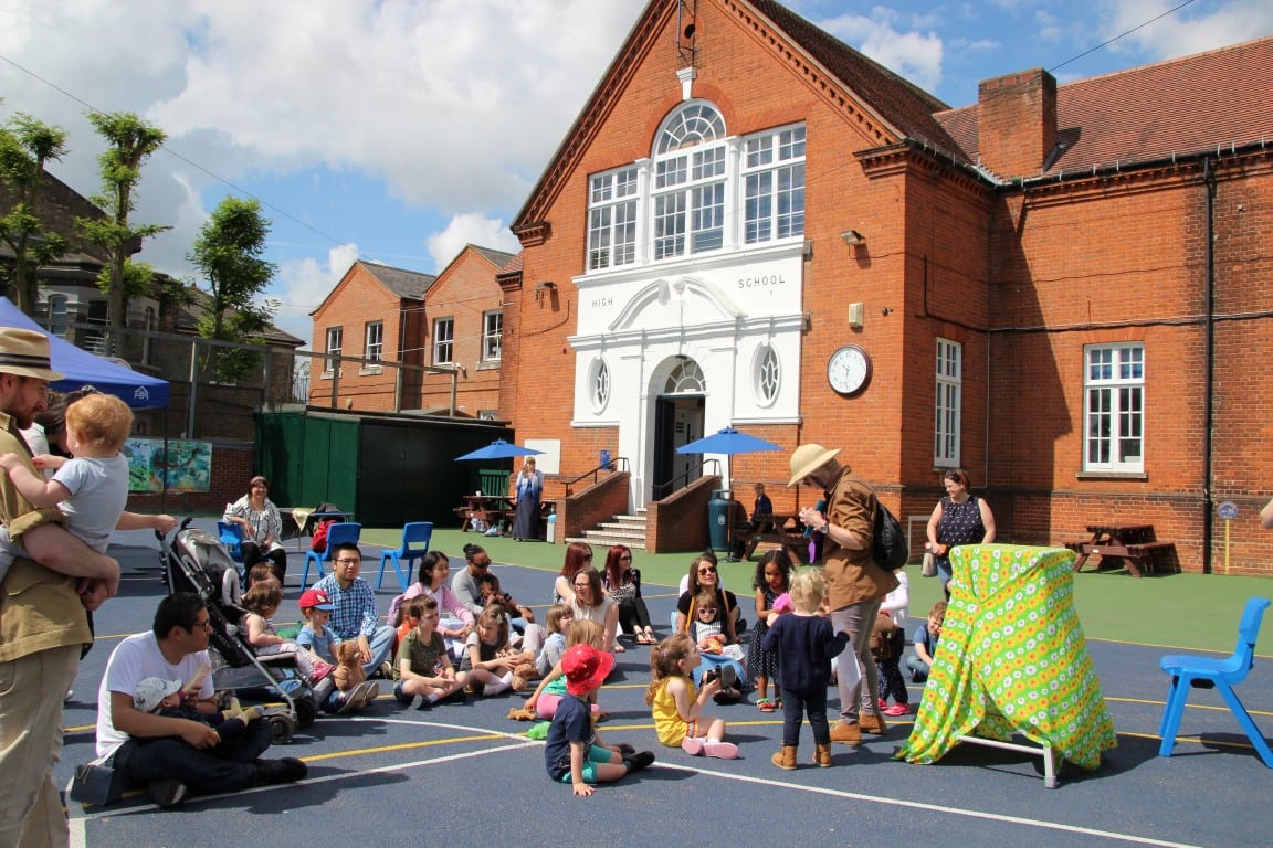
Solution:
<svg viewBox="0 0 1273 848"><path fill-rule="evenodd" d="M1234 687L1246 679L1254 665L1255 637L1260 632L1260 619L1264 618L1264 610L1268 609L1269 603L1268 598L1253 598L1246 601L1242 623L1237 627L1237 648L1232 656L1217 660L1172 653L1160 660L1158 665L1171 675L1171 689L1167 694L1167 707L1162 712L1162 725L1158 727L1158 735L1162 736L1158 756L1171 756L1171 749L1176 744L1176 732L1180 730L1180 717L1184 715L1185 701L1189 698L1189 687L1198 689L1214 687L1225 697L1225 703L1237 718L1237 723L1242 726L1260 759L1264 760L1265 765L1273 768L1273 751L1269 751L1264 734L1251 721L1246 707L1234 692Z"/></svg>

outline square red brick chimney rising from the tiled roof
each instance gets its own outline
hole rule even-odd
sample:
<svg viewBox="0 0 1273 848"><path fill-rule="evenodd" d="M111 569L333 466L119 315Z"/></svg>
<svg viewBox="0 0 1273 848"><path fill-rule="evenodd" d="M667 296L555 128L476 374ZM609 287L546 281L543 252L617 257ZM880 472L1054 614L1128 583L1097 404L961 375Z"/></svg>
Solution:
<svg viewBox="0 0 1273 848"><path fill-rule="evenodd" d="M976 86L981 164L1001 179L1034 177L1057 144L1057 78L1035 67Z"/></svg>

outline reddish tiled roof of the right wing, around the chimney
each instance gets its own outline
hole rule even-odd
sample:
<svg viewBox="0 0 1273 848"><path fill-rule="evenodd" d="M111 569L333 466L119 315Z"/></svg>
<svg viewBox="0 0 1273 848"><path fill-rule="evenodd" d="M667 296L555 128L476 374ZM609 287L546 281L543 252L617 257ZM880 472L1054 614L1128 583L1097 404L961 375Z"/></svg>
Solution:
<svg viewBox="0 0 1273 848"><path fill-rule="evenodd" d="M1262 139L1273 146L1269 80L1273 38L1058 85L1058 140L1066 149L1045 173L1240 147ZM978 107L936 117L976 160Z"/></svg>

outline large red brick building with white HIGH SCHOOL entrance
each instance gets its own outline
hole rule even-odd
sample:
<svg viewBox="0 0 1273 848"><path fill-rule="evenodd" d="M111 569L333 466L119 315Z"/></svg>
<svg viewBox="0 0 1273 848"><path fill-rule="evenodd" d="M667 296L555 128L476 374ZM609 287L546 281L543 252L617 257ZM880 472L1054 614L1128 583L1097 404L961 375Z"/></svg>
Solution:
<svg viewBox="0 0 1273 848"><path fill-rule="evenodd" d="M904 517L959 465L1001 539L1150 523L1188 571L1232 501L1268 572L1270 71L1264 39L951 109L770 0L652 0L513 224L502 408L558 482L625 458L634 505L736 425L783 445L724 463L779 511L819 441Z"/></svg>

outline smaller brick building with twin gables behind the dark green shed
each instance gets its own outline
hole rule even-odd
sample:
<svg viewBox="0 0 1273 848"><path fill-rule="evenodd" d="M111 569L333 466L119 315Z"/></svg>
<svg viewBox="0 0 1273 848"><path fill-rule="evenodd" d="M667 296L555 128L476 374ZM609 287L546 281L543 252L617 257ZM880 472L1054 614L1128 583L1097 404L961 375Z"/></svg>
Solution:
<svg viewBox="0 0 1273 848"><path fill-rule="evenodd" d="M311 406L503 418L495 277L513 258L470 244L437 276L354 262L313 311Z"/></svg>

